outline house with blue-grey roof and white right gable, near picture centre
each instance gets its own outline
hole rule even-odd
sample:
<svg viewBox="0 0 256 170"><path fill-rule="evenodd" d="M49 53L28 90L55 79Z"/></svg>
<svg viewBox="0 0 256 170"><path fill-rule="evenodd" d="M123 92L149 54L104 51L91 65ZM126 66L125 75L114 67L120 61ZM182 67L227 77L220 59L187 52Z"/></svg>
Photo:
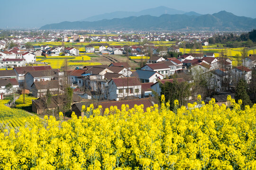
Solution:
<svg viewBox="0 0 256 170"><path fill-rule="evenodd" d="M165 77L156 71L148 70L136 70L131 76L139 78L141 83L154 82L156 79L162 80Z"/></svg>

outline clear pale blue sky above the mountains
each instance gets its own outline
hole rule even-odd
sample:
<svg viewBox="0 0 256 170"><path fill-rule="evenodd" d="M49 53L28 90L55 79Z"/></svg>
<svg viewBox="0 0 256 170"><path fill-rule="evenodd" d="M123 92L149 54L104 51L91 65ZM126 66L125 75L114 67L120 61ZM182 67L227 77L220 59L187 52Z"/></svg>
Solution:
<svg viewBox="0 0 256 170"><path fill-rule="evenodd" d="M114 11L140 11L159 6L201 14L226 10L237 16L256 18L256 0L1 0L0 28L38 28Z"/></svg>

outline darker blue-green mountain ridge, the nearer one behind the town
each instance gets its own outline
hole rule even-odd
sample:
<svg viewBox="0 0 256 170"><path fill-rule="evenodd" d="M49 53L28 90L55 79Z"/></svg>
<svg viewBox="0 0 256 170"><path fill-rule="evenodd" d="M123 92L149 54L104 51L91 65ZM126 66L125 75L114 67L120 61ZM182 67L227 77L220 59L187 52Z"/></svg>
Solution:
<svg viewBox="0 0 256 170"><path fill-rule="evenodd" d="M174 31L249 31L256 28L256 19L238 17L226 11L213 15L164 14L160 17L144 15L103 19L100 21L76 21L49 24L40 29L95 29L95 30L174 30Z"/></svg>

